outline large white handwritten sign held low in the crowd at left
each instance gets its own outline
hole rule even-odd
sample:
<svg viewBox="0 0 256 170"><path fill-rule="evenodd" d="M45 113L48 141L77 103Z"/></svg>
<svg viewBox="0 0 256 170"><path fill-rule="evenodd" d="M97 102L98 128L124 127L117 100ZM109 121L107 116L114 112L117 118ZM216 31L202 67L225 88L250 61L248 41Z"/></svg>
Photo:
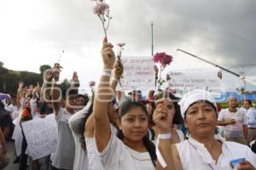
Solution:
<svg viewBox="0 0 256 170"><path fill-rule="evenodd" d="M55 116L51 114L45 118L22 122L27 150L32 160L49 156L55 152L57 144Z"/></svg>

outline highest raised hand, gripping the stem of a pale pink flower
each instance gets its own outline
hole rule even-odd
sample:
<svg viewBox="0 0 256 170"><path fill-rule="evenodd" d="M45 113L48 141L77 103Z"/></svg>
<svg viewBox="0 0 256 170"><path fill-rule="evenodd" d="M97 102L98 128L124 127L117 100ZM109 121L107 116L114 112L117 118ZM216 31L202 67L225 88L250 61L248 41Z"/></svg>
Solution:
<svg viewBox="0 0 256 170"><path fill-rule="evenodd" d="M107 37L102 42L102 60L104 69L113 69L115 55L113 53L113 45L108 42Z"/></svg>

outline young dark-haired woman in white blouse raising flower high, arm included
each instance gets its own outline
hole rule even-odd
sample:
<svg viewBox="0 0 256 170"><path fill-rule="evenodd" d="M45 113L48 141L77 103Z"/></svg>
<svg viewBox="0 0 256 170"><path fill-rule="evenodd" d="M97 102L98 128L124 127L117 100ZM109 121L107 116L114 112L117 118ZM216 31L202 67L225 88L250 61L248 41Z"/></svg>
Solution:
<svg viewBox="0 0 256 170"><path fill-rule="evenodd" d="M154 144L147 137L148 114L143 104L125 101L120 105L119 138L111 133L107 113L108 103L113 98L113 90L109 88L115 60L112 48L113 45L105 38L102 47L104 67L93 109L96 147L101 156L102 166L107 170L159 169L160 165L155 163ZM163 144L162 141L160 143ZM165 155L164 153L163 156Z"/></svg>

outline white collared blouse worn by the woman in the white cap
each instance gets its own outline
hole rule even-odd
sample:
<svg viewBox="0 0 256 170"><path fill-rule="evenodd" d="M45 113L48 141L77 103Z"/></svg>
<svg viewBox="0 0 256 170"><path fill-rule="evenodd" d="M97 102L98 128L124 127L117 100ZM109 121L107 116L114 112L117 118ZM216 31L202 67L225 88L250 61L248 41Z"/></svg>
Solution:
<svg viewBox="0 0 256 170"><path fill-rule="evenodd" d="M222 153L218 157L217 163L212 159L204 144L191 137L176 144L183 170L232 170L230 161L239 158L246 158L256 167L256 155L247 145L220 140L222 142Z"/></svg>

